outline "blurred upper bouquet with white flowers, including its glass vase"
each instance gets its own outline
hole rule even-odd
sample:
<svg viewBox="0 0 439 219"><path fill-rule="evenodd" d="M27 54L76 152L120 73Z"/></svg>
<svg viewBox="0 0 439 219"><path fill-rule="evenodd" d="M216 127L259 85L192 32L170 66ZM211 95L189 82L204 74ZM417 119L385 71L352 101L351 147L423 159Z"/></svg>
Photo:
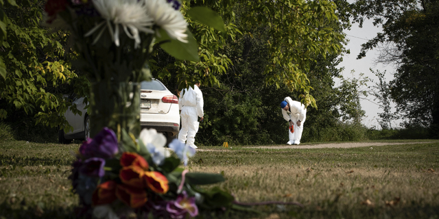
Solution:
<svg viewBox="0 0 439 219"><path fill-rule="evenodd" d="M140 133L140 81L159 47L179 60L198 61L198 44L183 16L225 31L209 8L177 0L48 0L45 25L67 29L74 66L91 84L91 136L103 127ZM62 45L58 44L58 47Z"/></svg>

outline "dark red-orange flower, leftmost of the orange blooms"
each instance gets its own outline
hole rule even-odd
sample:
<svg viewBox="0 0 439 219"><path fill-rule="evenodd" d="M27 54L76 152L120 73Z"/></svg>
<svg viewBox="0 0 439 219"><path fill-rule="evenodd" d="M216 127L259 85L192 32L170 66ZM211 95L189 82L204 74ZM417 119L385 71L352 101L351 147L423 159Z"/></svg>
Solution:
<svg viewBox="0 0 439 219"><path fill-rule="evenodd" d="M115 201L117 199L116 186L117 184L115 181L106 181L105 183L97 185L97 188L91 197L92 205L104 205Z"/></svg>

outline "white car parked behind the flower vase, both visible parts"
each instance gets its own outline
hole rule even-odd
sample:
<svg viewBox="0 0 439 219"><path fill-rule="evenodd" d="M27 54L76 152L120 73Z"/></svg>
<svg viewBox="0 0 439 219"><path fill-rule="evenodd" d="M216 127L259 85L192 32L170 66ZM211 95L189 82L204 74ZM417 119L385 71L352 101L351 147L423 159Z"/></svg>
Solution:
<svg viewBox="0 0 439 219"><path fill-rule="evenodd" d="M168 144L177 138L178 131L180 131L178 97L172 94L161 81L152 79L152 81L141 82L140 98L141 129L156 129L157 132L165 135ZM60 144L69 144L73 139L90 138L90 119L87 110L84 110L86 104L82 103L83 101L84 97L78 99L73 97L73 104L82 112L82 115L75 115L67 110L64 116L69 125L73 127L73 131L69 130L64 133L64 130L60 129L58 131Z"/></svg>

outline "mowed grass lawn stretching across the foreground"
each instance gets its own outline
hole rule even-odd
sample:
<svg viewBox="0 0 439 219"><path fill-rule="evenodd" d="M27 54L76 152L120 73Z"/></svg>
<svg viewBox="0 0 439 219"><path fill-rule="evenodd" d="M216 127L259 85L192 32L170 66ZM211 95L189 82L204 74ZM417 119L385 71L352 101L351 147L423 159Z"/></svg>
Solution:
<svg viewBox="0 0 439 219"><path fill-rule="evenodd" d="M78 146L0 143L0 218L75 218L78 197L67 177ZM203 211L199 218L439 218L438 140L372 149L272 148L201 146L209 151L198 151L187 168L224 175L225 182L211 186L241 203L304 207L274 203L246 212Z"/></svg>

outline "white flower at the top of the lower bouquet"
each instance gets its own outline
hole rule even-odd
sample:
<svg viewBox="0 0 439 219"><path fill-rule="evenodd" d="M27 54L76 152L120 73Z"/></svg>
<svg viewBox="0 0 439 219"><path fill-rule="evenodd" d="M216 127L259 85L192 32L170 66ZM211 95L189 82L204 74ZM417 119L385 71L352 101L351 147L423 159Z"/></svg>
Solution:
<svg viewBox="0 0 439 219"><path fill-rule="evenodd" d="M157 133L156 129L143 129L139 139L145 144L155 164L161 165L166 157L171 156L171 153L165 149L165 136L162 133Z"/></svg>

